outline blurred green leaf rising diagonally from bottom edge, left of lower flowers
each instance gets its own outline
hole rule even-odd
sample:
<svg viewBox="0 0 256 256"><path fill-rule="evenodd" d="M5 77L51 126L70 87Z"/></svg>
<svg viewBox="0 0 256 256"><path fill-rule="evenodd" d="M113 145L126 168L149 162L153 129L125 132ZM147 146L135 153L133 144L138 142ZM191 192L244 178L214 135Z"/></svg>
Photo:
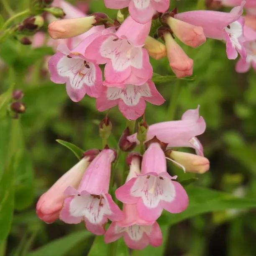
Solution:
<svg viewBox="0 0 256 256"><path fill-rule="evenodd" d="M82 230L69 234L62 238L56 239L47 243L46 245L36 249L27 254L27 256L65 256L71 251L78 243L86 243L86 239L91 237L92 233ZM72 255L72 254L69 254Z"/></svg>

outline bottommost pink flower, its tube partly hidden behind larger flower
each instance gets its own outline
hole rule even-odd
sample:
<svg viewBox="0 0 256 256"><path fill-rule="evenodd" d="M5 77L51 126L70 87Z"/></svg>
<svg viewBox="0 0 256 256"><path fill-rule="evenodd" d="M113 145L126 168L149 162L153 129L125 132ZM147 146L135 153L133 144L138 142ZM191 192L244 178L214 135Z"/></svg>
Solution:
<svg viewBox="0 0 256 256"><path fill-rule="evenodd" d="M129 157L128 157L129 158ZM130 156L130 171L126 182L138 177L141 160L138 155ZM123 236L125 243L132 249L141 250L151 244L160 246L162 233L156 221L145 221L138 216L136 204L123 205L123 220L110 224L105 233L105 243L111 243Z"/></svg>

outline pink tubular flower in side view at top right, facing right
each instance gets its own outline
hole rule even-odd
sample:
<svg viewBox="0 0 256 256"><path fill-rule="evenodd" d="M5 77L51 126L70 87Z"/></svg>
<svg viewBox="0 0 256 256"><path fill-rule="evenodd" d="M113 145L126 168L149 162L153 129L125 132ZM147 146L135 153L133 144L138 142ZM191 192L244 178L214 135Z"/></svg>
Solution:
<svg viewBox="0 0 256 256"><path fill-rule="evenodd" d="M233 8L230 13L197 10L178 13L174 17L195 26L201 26L208 38L225 40L228 59L236 59L238 53L244 58L246 56L243 48L244 20L240 18L244 4L245 1L242 1L241 6Z"/></svg>

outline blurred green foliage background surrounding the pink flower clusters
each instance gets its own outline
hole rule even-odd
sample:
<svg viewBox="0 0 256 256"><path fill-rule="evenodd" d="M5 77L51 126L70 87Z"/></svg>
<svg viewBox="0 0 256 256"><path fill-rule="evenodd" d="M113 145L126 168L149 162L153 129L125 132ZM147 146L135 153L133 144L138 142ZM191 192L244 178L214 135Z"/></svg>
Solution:
<svg viewBox="0 0 256 256"><path fill-rule="evenodd" d="M8 2L19 12L30 1ZM205 8L202 0L171 2L170 9L177 6L179 12ZM89 12L96 11L116 15L115 10L105 9L102 0L89 3ZM8 18L3 5L0 13L0 21ZM209 39L198 49L182 47L194 59L193 79L177 80L166 58L151 59L159 74L154 82L166 102L159 107L147 104L146 120L152 124L180 119L185 110L199 104L207 123L199 138L211 168L186 187L190 205L185 212L164 212L159 219L164 236L161 247L131 251L120 240L117 255L255 255L255 72L237 74L237 60L227 59L220 41ZM64 85L50 82L44 56L53 53L49 47L31 49L14 38L0 44L0 255L107 255L103 238L95 239L83 223L48 225L36 216L38 197L77 162L55 140L72 142L84 150L101 147L97 125L104 113L97 112L95 99L86 96L79 103L72 102ZM13 84L23 90L27 108L18 119L6 115ZM126 121L118 108L110 110L109 117L113 123L109 144L116 148ZM115 172L123 170L128 171L128 166L119 164ZM172 164L169 171L179 181L195 177Z"/></svg>

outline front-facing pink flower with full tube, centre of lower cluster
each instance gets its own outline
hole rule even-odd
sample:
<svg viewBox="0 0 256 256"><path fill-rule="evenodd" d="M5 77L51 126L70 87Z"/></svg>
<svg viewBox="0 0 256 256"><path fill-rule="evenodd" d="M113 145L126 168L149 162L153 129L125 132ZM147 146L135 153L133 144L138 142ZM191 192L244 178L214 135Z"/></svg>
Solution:
<svg viewBox="0 0 256 256"><path fill-rule="evenodd" d="M182 212L187 208L188 197L184 188L166 172L166 159L159 143L151 143L143 155L141 174L115 191L118 200L136 204L141 219L151 222L163 209Z"/></svg>

